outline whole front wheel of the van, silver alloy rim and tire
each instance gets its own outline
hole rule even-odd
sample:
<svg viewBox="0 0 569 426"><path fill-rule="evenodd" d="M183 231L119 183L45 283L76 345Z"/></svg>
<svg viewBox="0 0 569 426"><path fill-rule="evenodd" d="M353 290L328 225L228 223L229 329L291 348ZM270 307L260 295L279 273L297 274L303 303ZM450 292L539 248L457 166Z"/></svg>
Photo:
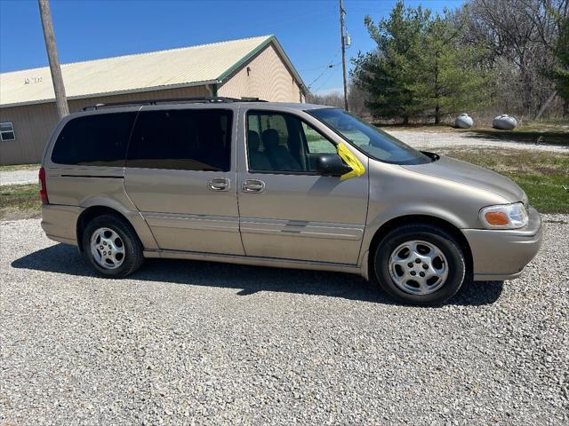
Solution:
<svg viewBox="0 0 569 426"><path fill-rule="evenodd" d="M466 276L461 246L433 225L405 225L388 233L373 258L375 277L389 296L436 305L454 296Z"/></svg>

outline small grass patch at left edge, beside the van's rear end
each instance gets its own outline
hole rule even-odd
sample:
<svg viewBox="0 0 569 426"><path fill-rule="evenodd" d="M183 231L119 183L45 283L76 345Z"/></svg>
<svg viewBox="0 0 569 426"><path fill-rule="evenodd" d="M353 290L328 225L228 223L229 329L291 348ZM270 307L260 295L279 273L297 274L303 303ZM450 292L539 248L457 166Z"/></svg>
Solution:
<svg viewBox="0 0 569 426"><path fill-rule="evenodd" d="M38 191L37 184L0 186L0 219L39 217Z"/></svg>

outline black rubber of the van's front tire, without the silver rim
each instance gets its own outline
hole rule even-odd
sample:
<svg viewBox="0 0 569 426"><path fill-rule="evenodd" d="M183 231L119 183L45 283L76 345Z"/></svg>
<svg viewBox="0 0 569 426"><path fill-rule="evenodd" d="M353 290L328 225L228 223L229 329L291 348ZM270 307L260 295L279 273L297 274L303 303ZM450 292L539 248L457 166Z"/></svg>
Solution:
<svg viewBox="0 0 569 426"><path fill-rule="evenodd" d="M397 286L391 278L389 259L391 254L407 241L426 241L438 248L446 257L448 272L444 284L429 294L412 294ZM466 277L466 261L461 245L445 230L434 225L404 225L389 232L380 242L373 256L375 278L381 288L397 302L432 306L442 304L453 297ZM441 280L442 281L442 280Z"/></svg>

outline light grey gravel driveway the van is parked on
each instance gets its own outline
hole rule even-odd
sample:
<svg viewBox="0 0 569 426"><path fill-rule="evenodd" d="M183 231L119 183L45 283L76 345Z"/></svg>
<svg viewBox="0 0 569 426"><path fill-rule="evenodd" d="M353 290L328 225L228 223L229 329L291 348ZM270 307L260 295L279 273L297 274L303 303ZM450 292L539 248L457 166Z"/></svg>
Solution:
<svg viewBox="0 0 569 426"><path fill-rule="evenodd" d="M155 260L92 275L4 222L1 424L567 424L569 216L441 308L341 273Z"/></svg>

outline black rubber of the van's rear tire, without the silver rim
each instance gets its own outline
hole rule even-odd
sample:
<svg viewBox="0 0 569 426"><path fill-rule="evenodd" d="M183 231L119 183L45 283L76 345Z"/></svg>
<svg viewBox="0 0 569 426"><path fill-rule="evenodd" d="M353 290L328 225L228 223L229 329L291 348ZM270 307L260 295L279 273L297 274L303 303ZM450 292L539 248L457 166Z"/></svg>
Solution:
<svg viewBox="0 0 569 426"><path fill-rule="evenodd" d="M114 231L124 245L124 258L122 264L115 269L107 269L97 263L92 254L91 237L100 228L108 228ZM102 247L102 246L101 246ZM142 244L132 226L118 215L104 214L94 217L84 228L83 233L83 252L87 261L104 277L123 278L140 268L144 260L142 255Z"/></svg>

